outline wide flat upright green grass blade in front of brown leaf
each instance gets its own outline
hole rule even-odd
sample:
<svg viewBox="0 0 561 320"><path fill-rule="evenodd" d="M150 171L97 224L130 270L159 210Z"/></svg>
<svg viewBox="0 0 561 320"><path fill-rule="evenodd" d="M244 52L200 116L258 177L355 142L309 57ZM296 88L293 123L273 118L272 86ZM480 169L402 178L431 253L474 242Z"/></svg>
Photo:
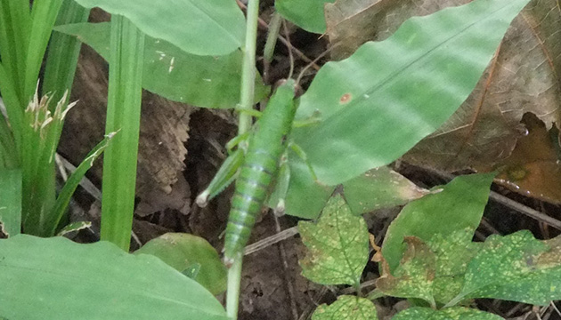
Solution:
<svg viewBox="0 0 561 320"><path fill-rule="evenodd" d="M132 22L111 18L106 134L118 132L103 157L102 240L128 252L142 102L144 35Z"/></svg>

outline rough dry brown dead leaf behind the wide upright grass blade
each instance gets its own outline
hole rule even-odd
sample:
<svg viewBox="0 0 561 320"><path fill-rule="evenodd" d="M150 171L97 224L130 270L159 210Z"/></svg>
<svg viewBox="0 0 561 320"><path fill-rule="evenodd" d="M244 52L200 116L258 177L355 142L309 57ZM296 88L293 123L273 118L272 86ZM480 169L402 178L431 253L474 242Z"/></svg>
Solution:
<svg viewBox="0 0 561 320"><path fill-rule="evenodd" d="M103 12L93 11L93 20L104 20ZM66 118L59 152L72 164L79 164L93 146L103 139L107 106L107 63L89 47L83 46L77 66L72 99L79 100ZM154 198L152 193L172 191L178 172L183 172L187 154L192 108L142 94L136 195ZM101 160L101 159L100 159ZM96 162L89 176L95 182L102 177L102 161Z"/></svg>

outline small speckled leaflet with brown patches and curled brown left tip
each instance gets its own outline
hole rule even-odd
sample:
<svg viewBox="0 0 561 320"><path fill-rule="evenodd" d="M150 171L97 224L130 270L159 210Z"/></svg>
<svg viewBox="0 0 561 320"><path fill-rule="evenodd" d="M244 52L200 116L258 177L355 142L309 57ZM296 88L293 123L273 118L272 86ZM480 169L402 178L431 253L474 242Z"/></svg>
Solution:
<svg viewBox="0 0 561 320"><path fill-rule="evenodd" d="M394 274L384 273L378 278L376 287L381 292L399 298L419 298L436 307L433 295L436 257L427 244L418 237L404 239L407 251Z"/></svg>

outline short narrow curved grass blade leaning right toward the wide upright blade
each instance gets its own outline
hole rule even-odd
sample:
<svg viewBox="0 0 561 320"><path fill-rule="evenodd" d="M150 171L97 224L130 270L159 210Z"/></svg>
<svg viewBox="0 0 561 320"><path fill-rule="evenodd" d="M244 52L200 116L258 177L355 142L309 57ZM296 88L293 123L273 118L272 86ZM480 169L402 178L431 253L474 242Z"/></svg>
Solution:
<svg viewBox="0 0 561 320"><path fill-rule="evenodd" d="M80 181L85 176L85 172L87 172L93 165L95 159L102 155L103 150L107 148L110 144L110 140L113 138L115 133L110 133L102 140L102 142L98 143L95 148L90 151L90 153L85 156L84 161L80 165L77 166L76 171L72 172L69 177L69 180L66 181L64 187L61 190L61 193L56 199L56 203L54 204L53 211L49 214L49 217L53 219L53 223L49 225L52 227L51 233L54 234L56 231L55 228L59 225L64 212L66 212L66 208L69 205L70 198L74 194L77 186L80 184Z"/></svg>

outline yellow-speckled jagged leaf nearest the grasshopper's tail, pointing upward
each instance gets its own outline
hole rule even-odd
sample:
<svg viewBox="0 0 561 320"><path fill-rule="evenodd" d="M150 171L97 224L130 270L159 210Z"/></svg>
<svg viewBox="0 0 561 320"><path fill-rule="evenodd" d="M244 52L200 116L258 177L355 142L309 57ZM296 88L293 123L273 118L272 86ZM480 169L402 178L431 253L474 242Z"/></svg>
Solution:
<svg viewBox="0 0 561 320"><path fill-rule="evenodd" d="M301 221L298 231L308 249L300 260L302 274L317 284L358 287L368 262L368 229L341 196L333 196L317 224Z"/></svg>

